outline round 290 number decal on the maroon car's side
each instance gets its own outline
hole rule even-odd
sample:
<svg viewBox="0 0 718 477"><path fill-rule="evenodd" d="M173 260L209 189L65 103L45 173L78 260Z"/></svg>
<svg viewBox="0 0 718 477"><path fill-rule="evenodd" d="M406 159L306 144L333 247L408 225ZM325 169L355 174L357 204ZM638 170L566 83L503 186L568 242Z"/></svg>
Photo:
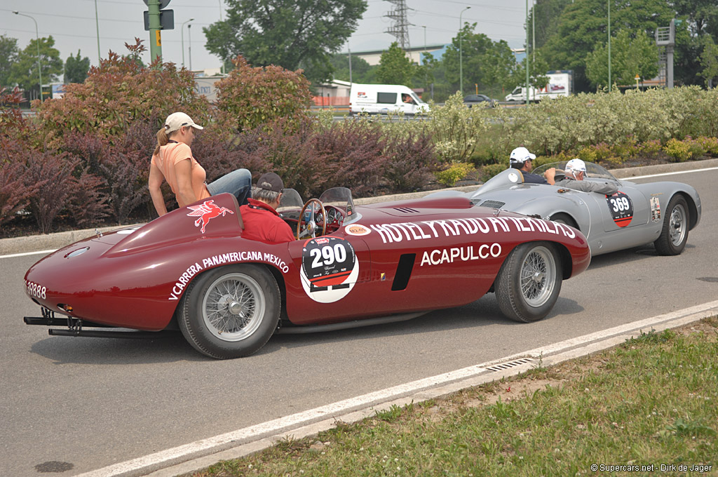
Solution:
<svg viewBox="0 0 718 477"><path fill-rule="evenodd" d="M359 276L359 261L344 238L317 237L302 250L302 287L315 302L333 303L347 296Z"/></svg>

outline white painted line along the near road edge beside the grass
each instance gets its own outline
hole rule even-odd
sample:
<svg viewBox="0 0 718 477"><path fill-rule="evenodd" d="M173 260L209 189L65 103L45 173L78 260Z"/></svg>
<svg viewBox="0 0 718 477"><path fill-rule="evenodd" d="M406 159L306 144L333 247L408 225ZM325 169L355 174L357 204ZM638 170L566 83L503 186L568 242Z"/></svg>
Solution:
<svg viewBox="0 0 718 477"><path fill-rule="evenodd" d="M296 428L299 425L307 425L312 422L317 422L318 420L325 420L327 418L345 415L348 412L354 412L358 409L366 409L381 404L382 402L411 396L412 394L416 394L417 392L421 392L425 389L478 376L479 374L488 372L488 367L494 365L495 363L516 359L520 356L526 357L527 355L536 358L546 357L549 353L553 355L554 353L559 353L560 351L567 351L572 348L587 346L589 343L595 343L597 340L615 338L616 336L623 335L625 333L651 328L652 326L656 326L661 323L668 323L671 320L679 320L680 318L690 315L700 314L695 316L695 320L700 320L701 318L707 318L714 315L716 313L716 309L718 309L718 300L685 308L684 310L658 315L653 318L636 321L635 323L616 326L597 333L590 333L588 335L561 341L542 348L535 348L531 351L507 356L501 360L494 360L489 363L482 363L463 369L457 369L456 371L449 371L448 373L419 379L417 381L411 381L409 383L400 384L388 389L364 394L363 396L334 402L332 404L327 404L315 409L309 409L287 417L262 422L261 424L245 427L244 429L227 432L215 437L209 437L208 439L197 440L194 443L180 445L175 448L162 450L133 460L127 460L126 462L113 464L112 466L100 468L95 471L82 473L77 477L146 475L147 472L156 471L158 468L164 468L174 463L190 460L190 458L208 455L212 450L218 451L235 447L243 443L251 442L252 440L258 440L260 437L276 435L281 431Z"/></svg>

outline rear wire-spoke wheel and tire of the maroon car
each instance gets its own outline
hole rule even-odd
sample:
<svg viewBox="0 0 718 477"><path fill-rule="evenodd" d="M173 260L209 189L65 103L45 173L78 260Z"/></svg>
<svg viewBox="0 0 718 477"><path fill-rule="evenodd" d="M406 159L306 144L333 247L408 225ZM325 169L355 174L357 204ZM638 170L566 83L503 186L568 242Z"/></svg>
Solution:
<svg viewBox="0 0 718 477"><path fill-rule="evenodd" d="M218 359L248 356L276 330L281 309L272 274L253 264L205 272L190 283L180 301L182 335L200 353Z"/></svg>

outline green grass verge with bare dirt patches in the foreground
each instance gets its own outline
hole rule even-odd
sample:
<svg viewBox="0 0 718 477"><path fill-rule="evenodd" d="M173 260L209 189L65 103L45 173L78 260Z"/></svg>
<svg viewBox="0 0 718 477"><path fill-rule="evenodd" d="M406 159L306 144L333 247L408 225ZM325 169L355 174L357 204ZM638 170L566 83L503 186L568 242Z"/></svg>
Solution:
<svg viewBox="0 0 718 477"><path fill-rule="evenodd" d="M648 333L559 366L393 406L195 477L718 476L718 320ZM707 473L661 465L708 464Z"/></svg>

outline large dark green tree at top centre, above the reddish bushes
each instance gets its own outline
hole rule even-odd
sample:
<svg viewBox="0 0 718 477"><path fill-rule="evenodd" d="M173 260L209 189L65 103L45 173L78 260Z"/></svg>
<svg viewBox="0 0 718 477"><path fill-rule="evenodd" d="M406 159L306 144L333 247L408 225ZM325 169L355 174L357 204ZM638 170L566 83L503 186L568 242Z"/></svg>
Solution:
<svg viewBox="0 0 718 477"><path fill-rule="evenodd" d="M366 10L365 0L225 0L224 21L203 28L207 49L222 60L242 55L254 66L306 68L329 80L339 51Z"/></svg>

